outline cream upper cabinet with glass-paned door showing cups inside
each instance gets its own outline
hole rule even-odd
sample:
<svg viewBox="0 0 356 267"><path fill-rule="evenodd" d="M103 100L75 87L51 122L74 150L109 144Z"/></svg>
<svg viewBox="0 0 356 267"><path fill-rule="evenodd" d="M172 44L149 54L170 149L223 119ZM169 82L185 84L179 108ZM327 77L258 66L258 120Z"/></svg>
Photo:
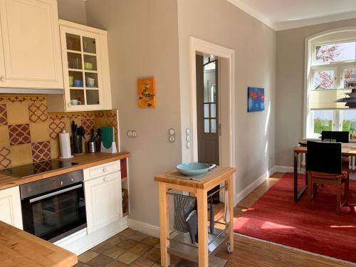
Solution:
<svg viewBox="0 0 356 267"><path fill-rule="evenodd" d="M100 33L93 32L96 29L73 27L77 25L61 24L66 110L105 109L103 98L104 95L110 98L110 88L104 87L108 87L108 83L110 86L110 81L103 83L102 80L108 78L103 75L103 71L108 72L108 66L103 68L103 43L100 43L103 38Z"/></svg>

